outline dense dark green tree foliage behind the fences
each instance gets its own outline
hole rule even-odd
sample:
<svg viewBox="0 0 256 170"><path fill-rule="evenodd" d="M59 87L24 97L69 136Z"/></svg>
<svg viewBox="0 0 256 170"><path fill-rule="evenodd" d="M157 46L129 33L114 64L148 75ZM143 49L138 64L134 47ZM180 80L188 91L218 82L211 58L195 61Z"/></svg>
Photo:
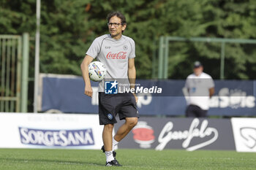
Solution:
<svg viewBox="0 0 256 170"><path fill-rule="evenodd" d="M151 78L159 36L256 39L254 0L46 0L41 3L40 70L44 73L80 75L86 50L97 36L108 34L106 16L115 10L127 18L124 34L135 39L135 64L141 79ZM36 1L3 0L0 16L0 34L29 32L34 36ZM31 51L33 58L34 42ZM227 79L255 79L255 46L228 44L225 54ZM202 61L205 71L219 78L219 58L219 44L172 43L169 78L186 78L195 60Z"/></svg>

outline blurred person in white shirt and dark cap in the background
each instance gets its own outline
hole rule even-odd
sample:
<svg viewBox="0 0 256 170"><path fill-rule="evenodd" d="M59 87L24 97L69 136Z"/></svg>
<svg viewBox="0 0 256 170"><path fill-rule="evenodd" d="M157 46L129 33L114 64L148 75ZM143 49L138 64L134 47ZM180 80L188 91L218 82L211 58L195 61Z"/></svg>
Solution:
<svg viewBox="0 0 256 170"><path fill-rule="evenodd" d="M206 117L210 98L214 95L214 80L203 72L203 65L199 61L195 61L193 71L185 84L186 117Z"/></svg>

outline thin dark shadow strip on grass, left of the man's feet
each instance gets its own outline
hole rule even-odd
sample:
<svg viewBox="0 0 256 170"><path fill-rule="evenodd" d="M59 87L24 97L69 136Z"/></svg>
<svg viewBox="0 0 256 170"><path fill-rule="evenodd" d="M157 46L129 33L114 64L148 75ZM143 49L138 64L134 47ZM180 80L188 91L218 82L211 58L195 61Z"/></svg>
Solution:
<svg viewBox="0 0 256 170"><path fill-rule="evenodd" d="M17 161L17 162L42 162L42 163L59 163L67 165L94 165L94 166L105 166L104 163L97 162L86 162L86 161L61 161L61 160L48 160L48 159L25 159L25 158L0 158L1 161Z"/></svg>

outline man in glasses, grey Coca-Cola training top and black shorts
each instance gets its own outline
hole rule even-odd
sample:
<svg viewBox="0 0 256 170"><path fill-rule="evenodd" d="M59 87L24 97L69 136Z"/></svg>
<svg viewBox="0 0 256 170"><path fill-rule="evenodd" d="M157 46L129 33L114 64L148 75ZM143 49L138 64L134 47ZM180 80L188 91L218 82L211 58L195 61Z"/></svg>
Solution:
<svg viewBox="0 0 256 170"><path fill-rule="evenodd" d="M138 123L139 115L136 107L138 97L135 93L105 93L105 80L127 80L129 88L135 88L135 42L128 36L122 35L127 23L121 12L110 12L107 19L110 34L94 39L80 68L86 84L85 94L92 96L89 63L97 58L97 61L104 63L107 67L108 72L105 79L99 82L99 124L104 125L102 151L106 155L106 166L121 166L116 161L116 152L113 148ZM114 123L117 123L117 114L120 120L125 120L125 123L113 136L112 132Z"/></svg>

